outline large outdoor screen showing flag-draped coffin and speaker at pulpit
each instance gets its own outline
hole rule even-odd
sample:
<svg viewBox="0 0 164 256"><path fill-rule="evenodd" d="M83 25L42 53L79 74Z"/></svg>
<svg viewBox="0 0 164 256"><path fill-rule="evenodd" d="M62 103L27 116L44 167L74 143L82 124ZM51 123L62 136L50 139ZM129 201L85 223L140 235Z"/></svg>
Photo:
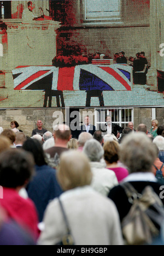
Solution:
<svg viewBox="0 0 164 256"><path fill-rule="evenodd" d="M1 108L163 106L164 40L153 46L149 1L128 0L126 12L116 1L117 17L106 13L102 21L95 9L87 21L89 1L36 0L31 10L28 1L1 2ZM143 9L132 19L136 8ZM120 51L126 61L116 58Z"/></svg>

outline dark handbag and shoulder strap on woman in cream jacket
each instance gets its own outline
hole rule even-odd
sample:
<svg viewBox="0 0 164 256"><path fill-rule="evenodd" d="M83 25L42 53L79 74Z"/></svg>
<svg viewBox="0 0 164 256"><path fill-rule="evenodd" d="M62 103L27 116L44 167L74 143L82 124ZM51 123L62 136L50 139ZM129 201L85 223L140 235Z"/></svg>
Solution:
<svg viewBox="0 0 164 256"><path fill-rule="evenodd" d="M69 224L68 224L68 219L67 219L65 210L63 208L62 202L60 200L60 197L58 197L58 202L60 204L61 212L63 214L63 219L65 220L65 223L66 223L67 233L66 233L66 235L63 235L62 240L60 242L56 243L55 245L74 245L74 238L71 234L71 230L70 230Z"/></svg>

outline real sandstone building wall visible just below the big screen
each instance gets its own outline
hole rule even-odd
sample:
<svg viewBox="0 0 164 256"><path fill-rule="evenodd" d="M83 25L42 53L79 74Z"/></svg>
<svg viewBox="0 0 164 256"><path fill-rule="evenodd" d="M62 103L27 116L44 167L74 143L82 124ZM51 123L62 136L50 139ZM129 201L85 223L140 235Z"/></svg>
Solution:
<svg viewBox="0 0 164 256"><path fill-rule="evenodd" d="M81 122L83 122L83 112L86 113L88 109L80 109ZM22 130L27 136L31 136L31 132L36 128L37 120L43 121L43 127L48 131L53 131L53 125L58 118L58 112L63 115L63 121L66 122L65 109L3 109L0 110L0 126L3 129L10 128L10 122L16 120L19 123L19 129ZM94 109L90 109L90 113L94 114ZM140 123L144 123L148 127L148 131L151 129L152 112L151 108L134 108L134 127L135 129ZM159 125L164 124L164 108L156 108L156 119L159 121ZM93 117L93 124L96 125Z"/></svg>

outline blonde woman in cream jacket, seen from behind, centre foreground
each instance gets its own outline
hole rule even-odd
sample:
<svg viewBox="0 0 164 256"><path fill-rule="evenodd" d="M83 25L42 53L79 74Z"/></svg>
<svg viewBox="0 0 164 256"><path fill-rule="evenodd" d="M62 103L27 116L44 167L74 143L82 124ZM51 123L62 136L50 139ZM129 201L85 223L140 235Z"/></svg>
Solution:
<svg viewBox="0 0 164 256"><path fill-rule="evenodd" d="M65 191L60 200L74 244L122 245L118 211L112 200L91 188L92 172L87 156L71 149L62 153L57 178ZM56 245L67 234L58 199L49 203L43 223L38 245Z"/></svg>

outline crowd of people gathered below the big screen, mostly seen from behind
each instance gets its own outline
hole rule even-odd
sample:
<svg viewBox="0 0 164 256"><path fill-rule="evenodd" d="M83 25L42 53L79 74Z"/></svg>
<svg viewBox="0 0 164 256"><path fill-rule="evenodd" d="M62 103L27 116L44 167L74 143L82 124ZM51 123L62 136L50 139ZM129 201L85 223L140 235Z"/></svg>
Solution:
<svg viewBox="0 0 164 256"><path fill-rule="evenodd" d="M96 130L86 116L72 138L66 124L53 132L36 124L31 137L16 121L0 135L0 245L57 245L67 232L60 202L75 245L126 245L121 223L131 203L122 184L140 194L149 185L160 199L164 126L155 119L150 132L132 122L122 129L107 115ZM164 244L162 223L158 230Z"/></svg>

